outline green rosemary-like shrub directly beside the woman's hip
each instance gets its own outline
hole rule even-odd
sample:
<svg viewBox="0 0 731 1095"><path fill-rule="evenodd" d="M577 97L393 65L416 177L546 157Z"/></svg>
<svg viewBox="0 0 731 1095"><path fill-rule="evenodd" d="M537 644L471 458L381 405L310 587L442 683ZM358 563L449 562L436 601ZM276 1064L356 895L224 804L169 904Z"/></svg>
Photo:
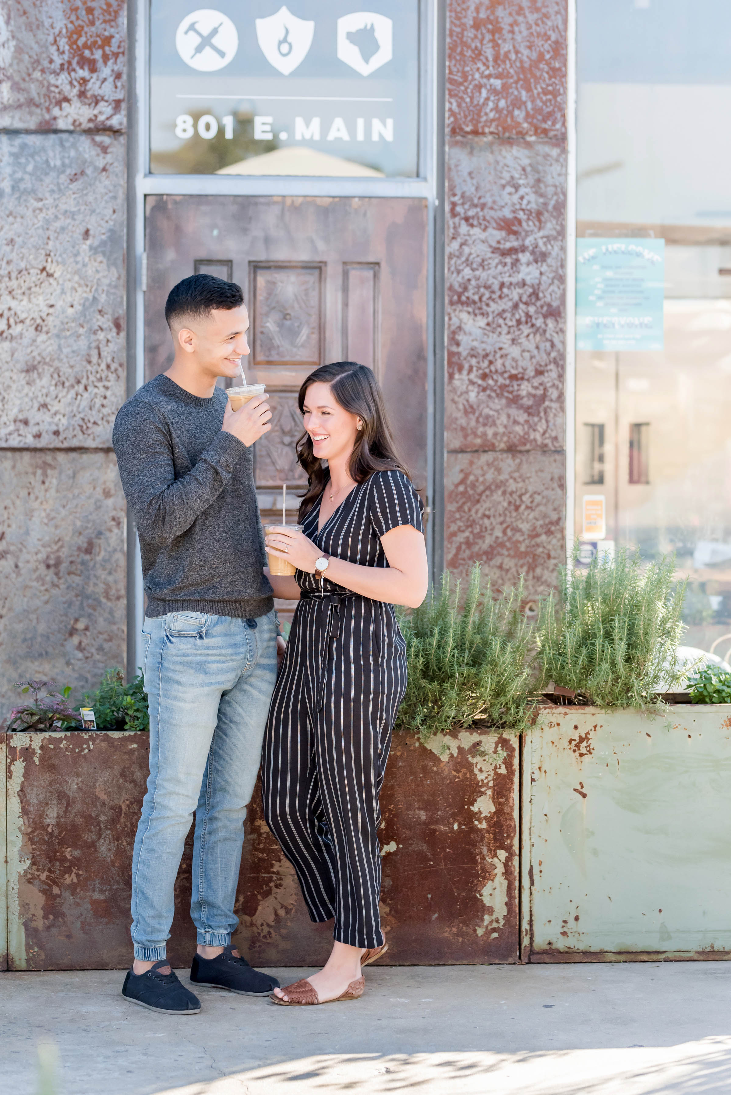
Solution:
<svg viewBox="0 0 731 1095"><path fill-rule="evenodd" d="M519 733L527 726L531 633L520 611L522 586L492 597L475 564L464 603L460 583L442 575L420 608L399 612L408 683L397 729L432 734L481 723Z"/></svg>

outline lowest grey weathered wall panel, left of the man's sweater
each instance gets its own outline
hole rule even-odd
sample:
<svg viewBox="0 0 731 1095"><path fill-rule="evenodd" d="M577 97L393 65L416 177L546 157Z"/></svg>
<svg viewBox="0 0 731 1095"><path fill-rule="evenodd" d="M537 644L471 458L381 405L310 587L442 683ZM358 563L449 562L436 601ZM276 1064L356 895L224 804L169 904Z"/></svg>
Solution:
<svg viewBox="0 0 731 1095"><path fill-rule="evenodd" d="M16 680L79 703L124 666L126 511L113 452L0 451L0 483L1 724Z"/></svg>

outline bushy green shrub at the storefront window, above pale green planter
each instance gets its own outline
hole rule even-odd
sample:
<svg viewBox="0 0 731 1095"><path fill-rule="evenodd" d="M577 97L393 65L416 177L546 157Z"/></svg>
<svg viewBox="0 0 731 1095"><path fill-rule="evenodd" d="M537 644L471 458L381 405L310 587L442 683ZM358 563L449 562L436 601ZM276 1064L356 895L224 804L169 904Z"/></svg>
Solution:
<svg viewBox="0 0 731 1095"><path fill-rule="evenodd" d="M562 567L536 626L538 689L554 681L601 707L654 706L683 679L673 669L685 585L673 555L647 564L620 549L584 572Z"/></svg>

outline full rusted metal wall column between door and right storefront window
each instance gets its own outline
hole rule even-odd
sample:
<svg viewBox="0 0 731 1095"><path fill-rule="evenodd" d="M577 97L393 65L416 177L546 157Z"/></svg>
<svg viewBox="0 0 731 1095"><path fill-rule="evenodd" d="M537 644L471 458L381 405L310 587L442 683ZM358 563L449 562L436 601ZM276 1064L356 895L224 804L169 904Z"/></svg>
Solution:
<svg viewBox="0 0 731 1095"><path fill-rule="evenodd" d="M566 0L449 0L445 565L564 560Z"/></svg>

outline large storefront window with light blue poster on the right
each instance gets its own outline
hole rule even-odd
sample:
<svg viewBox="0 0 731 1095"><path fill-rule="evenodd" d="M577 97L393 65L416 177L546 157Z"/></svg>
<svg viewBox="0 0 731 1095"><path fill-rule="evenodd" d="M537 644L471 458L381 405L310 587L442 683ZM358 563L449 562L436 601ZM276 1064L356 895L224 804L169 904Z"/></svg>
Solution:
<svg viewBox="0 0 731 1095"><path fill-rule="evenodd" d="M584 558L674 551L705 649L731 632L729 58L727 0L579 0L577 529Z"/></svg>

